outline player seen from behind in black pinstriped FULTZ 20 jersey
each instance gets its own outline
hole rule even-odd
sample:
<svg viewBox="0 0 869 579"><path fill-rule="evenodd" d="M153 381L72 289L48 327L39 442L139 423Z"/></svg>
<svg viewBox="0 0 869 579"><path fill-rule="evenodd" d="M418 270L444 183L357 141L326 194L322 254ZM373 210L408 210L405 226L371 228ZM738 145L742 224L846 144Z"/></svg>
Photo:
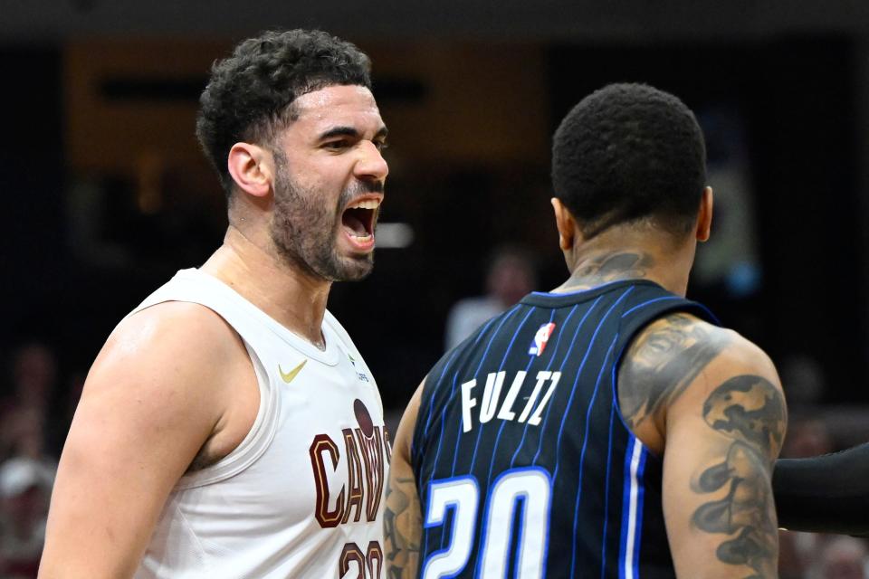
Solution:
<svg viewBox="0 0 869 579"><path fill-rule="evenodd" d="M759 347L683 298L712 192L670 94L610 85L553 146L570 277L448 352L398 429L389 577L776 577L787 425Z"/></svg>

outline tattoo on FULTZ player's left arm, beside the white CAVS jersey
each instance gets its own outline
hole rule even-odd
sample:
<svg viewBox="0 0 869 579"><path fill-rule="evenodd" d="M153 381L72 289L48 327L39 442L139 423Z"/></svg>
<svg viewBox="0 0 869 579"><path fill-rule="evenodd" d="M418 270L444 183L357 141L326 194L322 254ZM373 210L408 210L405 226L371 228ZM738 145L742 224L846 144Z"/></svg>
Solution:
<svg viewBox="0 0 869 579"><path fill-rule="evenodd" d="M416 576L422 519L415 480L396 477L387 482L387 505L383 515L388 579Z"/></svg>

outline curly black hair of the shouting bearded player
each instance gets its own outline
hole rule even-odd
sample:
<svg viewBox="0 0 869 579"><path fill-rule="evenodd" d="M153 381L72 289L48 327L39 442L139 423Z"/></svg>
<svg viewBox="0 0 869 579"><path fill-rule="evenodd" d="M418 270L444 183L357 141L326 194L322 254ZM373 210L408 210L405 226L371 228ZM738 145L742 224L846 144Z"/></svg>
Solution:
<svg viewBox="0 0 869 579"><path fill-rule="evenodd" d="M227 196L229 149L238 141L271 146L274 131L293 120L294 100L333 85L370 89L371 62L355 45L319 30L262 33L214 63L199 98L196 137Z"/></svg>

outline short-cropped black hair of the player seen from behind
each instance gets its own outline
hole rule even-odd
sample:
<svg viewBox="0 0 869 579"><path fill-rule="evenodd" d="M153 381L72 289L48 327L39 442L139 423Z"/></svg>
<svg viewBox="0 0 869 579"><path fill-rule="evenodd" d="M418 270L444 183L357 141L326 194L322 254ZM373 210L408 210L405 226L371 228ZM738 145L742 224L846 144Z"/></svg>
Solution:
<svg viewBox="0 0 869 579"><path fill-rule="evenodd" d="M691 230L706 185L706 147L691 109L646 84L610 84L580 100L552 143L555 195L586 238L652 219Z"/></svg>

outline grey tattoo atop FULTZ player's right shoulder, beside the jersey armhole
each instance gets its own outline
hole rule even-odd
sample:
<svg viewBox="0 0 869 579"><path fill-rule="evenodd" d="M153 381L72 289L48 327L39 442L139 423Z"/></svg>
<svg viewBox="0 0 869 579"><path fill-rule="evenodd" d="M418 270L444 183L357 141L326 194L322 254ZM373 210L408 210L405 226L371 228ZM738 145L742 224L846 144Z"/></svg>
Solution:
<svg viewBox="0 0 869 579"><path fill-rule="evenodd" d="M673 314L643 332L625 356L619 373L619 403L632 428L676 401L729 340L714 337L706 324Z"/></svg>

